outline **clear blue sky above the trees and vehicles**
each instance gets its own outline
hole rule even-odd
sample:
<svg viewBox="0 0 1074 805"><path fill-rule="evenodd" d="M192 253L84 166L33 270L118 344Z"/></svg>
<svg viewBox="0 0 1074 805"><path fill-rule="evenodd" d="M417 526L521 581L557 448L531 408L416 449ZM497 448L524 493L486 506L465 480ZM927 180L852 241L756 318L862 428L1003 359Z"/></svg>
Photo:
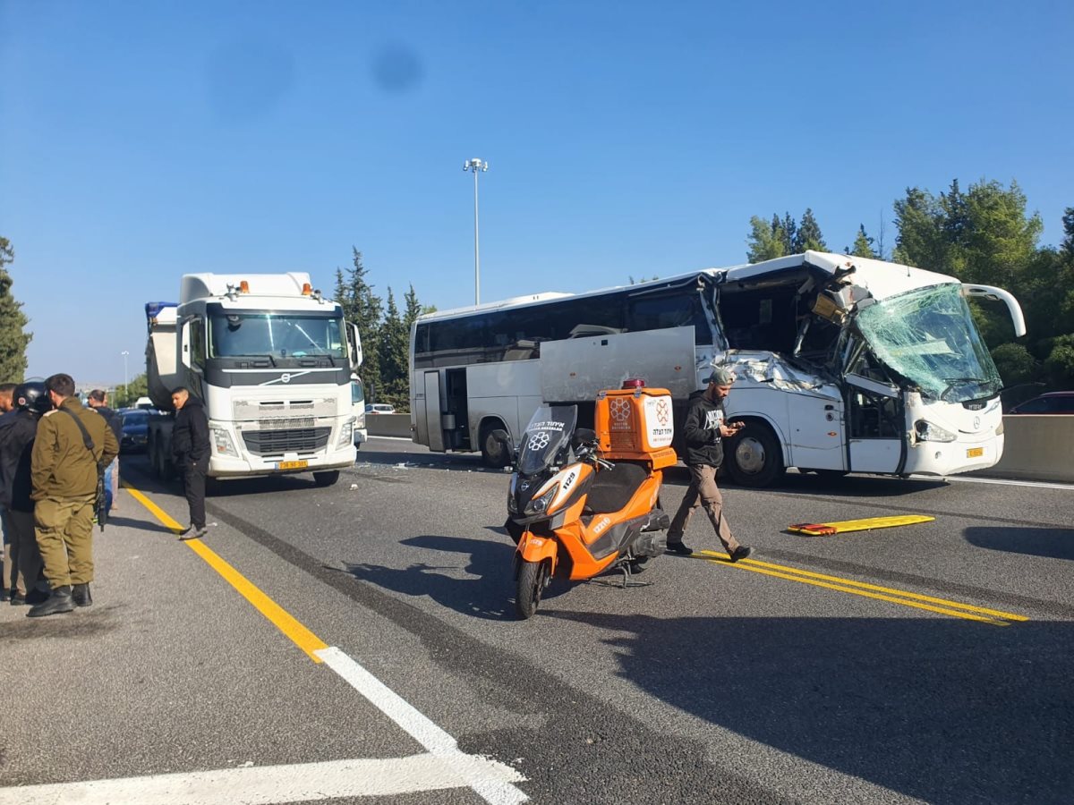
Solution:
<svg viewBox="0 0 1074 805"><path fill-rule="evenodd" d="M0 235L29 372L144 369L192 272L351 246L440 309L740 263L812 207L832 250L957 177L1074 206L1070 2L0 0Z"/></svg>

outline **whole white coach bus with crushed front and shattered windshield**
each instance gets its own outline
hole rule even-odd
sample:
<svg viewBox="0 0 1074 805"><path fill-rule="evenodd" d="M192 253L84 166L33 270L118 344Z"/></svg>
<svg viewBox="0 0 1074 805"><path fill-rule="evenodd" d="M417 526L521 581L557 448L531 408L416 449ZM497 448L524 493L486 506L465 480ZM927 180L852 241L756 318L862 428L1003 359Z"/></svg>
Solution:
<svg viewBox="0 0 1074 805"><path fill-rule="evenodd" d="M710 366L738 375L725 449L739 484L787 467L948 475L1003 452L1002 382L968 296L1006 291L876 260L808 251L582 294L539 294L419 318L410 333L413 440L491 466L542 402L592 418L601 389L641 378L677 418ZM590 423L591 424L591 423Z"/></svg>

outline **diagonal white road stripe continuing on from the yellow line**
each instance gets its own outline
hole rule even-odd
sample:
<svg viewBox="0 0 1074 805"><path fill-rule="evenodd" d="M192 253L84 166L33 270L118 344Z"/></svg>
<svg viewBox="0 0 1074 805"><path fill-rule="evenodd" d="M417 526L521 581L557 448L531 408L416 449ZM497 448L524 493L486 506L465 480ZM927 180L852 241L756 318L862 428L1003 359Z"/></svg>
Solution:
<svg viewBox="0 0 1074 805"><path fill-rule="evenodd" d="M529 799L511 785L525 779L522 775L498 761L460 751L451 735L347 654L335 646L314 654L432 755L446 760L464 785L473 788L490 805L514 805Z"/></svg>

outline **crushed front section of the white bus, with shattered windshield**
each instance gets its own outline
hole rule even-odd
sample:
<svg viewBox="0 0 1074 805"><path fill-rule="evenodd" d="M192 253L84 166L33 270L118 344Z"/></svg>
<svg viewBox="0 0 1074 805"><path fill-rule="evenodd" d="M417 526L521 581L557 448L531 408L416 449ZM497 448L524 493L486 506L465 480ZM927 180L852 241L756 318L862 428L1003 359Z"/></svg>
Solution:
<svg viewBox="0 0 1074 805"><path fill-rule="evenodd" d="M968 296L1018 303L919 268L806 254L716 273L717 363L739 381L728 413L748 427L727 471L745 485L786 467L948 475L1003 452L1002 382Z"/></svg>

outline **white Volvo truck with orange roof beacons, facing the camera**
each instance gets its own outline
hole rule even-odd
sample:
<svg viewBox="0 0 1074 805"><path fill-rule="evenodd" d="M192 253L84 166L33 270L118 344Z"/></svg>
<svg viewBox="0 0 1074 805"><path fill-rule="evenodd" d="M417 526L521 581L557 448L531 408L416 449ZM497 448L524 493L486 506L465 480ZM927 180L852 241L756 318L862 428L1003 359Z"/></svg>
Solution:
<svg viewBox="0 0 1074 805"><path fill-rule="evenodd" d="M354 415L358 328L308 274L187 274L178 304L145 306L149 396L172 411L186 386L208 418L208 475L314 473L319 486L354 464L364 422ZM154 473L169 478L174 414L149 420ZM357 427L361 426L361 427Z"/></svg>

